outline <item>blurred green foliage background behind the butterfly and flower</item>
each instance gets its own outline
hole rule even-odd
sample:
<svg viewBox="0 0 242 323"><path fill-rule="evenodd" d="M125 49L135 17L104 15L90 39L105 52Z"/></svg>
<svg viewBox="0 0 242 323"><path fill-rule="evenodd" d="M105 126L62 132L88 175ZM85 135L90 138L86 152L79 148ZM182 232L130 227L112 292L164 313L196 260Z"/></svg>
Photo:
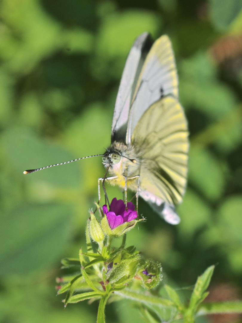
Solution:
<svg viewBox="0 0 242 323"><path fill-rule="evenodd" d="M144 31L172 40L190 130L188 187L177 226L140 200L147 221L127 243L160 261L164 282L177 288L217 264L211 300L239 298L241 8L241 0L1 1L1 322L96 321L96 303L64 310L55 277L60 259L77 257L85 244L101 158L23 171L104 152L125 59ZM117 188L108 194L122 198ZM108 305L107 322L140 322L127 303ZM220 322L199 322L207 320Z"/></svg>

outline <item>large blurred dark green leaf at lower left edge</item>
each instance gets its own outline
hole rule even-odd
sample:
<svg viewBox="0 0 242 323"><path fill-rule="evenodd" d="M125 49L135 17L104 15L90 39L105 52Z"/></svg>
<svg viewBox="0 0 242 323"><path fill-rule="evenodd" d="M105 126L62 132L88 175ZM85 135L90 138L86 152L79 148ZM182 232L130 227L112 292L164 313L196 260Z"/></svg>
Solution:
<svg viewBox="0 0 242 323"><path fill-rule="evenodd" d="M63 204L19 205L2 216L0 273L27 274L52 266L68 244L70 207Z"/></svg>

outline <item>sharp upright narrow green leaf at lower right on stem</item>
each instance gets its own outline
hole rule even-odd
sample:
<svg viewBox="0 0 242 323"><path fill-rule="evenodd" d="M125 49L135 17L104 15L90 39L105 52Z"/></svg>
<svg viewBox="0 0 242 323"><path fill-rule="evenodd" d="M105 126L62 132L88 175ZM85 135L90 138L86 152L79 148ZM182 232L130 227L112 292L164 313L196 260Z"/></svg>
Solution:
<svg viewBox="0 0 242 323"><path fill-rule="evenodd" d="M195 287L193 289L190 303L189 303L189 309L192 310L194 313L197 310L197 306L204 300L204 298L207 296L207 293L205 293L210 280L213 275L215 266L208 267L205 272L197 278L197 282L195 284Z"/></svg>

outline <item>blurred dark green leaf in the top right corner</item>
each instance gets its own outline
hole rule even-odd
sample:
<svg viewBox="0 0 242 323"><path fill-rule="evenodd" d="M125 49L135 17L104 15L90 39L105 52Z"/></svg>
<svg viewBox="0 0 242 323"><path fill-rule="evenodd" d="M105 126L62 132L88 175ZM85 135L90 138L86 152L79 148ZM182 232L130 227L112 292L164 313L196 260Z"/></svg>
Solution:
<svg viewBox="0 0 242 323"><path fill-rule="evenodd" d="M241 8L241 0L210 0L211 18L217 30L225 31Z"/></svg>

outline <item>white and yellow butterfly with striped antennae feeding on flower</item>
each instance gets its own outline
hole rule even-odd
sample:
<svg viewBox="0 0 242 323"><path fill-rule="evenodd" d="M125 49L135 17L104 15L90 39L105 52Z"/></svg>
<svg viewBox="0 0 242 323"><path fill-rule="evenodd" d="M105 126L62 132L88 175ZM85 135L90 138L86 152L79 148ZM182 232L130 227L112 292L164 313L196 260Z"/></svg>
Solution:
<svg viewBox="0 0 242 323"><path fill-rule="evenodd" d="M178 224L175 206L182 202L187 185L188 149L171 42L163 35L153 43L150 34L143 33L131 47L118 89L111 145L101 155L110 175L102 179L103 187L105 180L125 192L138 190L136 197L168 223ZM73 161L89 157L93 156Z"/></svg>

